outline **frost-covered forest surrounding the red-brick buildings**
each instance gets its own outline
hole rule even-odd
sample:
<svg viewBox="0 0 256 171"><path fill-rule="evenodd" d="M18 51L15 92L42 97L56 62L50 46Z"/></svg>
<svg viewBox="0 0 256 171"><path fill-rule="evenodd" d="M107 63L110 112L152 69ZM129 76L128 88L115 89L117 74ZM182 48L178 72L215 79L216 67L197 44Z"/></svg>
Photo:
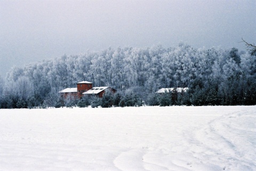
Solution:
<svg viewBox="0 0 256 171"><path fill-rule="evenodd" d="M63 99L80 81L110 86L103 98ZM155 93L161 88L188 91ZM256 105L256 55L237 48L161 45L107 48L12 67L0 77L0 108Z"/></svg>

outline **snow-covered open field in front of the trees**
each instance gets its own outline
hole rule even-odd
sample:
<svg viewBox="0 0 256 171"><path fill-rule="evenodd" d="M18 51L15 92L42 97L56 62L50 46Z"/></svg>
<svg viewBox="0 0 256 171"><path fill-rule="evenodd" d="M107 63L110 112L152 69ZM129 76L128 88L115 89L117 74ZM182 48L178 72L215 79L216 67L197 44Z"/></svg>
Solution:
<svg viewBox="0 0 256 171"><path fill-rule="evenodd" d="M256 106L1 109L0 170L256 170Z"/></svg>

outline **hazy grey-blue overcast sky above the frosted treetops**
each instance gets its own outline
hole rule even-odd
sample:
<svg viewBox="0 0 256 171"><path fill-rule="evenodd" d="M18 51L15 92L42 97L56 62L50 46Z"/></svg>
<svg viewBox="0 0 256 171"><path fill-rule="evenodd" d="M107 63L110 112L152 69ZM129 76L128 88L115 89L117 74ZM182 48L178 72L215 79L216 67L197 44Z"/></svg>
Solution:
<svg viewBox="0 0 256 171"><path fill-rule="evenodd" d="M0 75L13 65L90 50L256 43L255 0L0 0Z"/></svg>

